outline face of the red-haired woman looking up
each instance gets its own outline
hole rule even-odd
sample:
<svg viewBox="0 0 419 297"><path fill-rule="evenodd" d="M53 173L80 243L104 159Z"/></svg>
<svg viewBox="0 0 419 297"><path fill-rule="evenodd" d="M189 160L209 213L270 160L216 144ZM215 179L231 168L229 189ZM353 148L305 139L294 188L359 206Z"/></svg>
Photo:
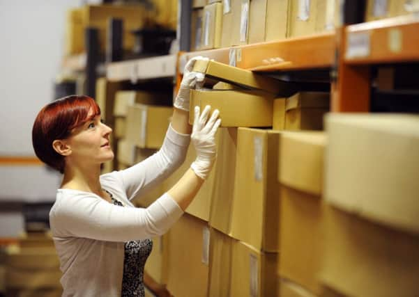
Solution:
<svg viewBox="0 0 419 297"><path fill-rule="evenodd" d="M93 111L89 116L93 115ZM68 138L71 161L82 164L100 164L114 158L114 152L109 143L109 135L112 129L103 124L100 115L76 127ZM70 160L69 160L70 161Z"/></svg>

